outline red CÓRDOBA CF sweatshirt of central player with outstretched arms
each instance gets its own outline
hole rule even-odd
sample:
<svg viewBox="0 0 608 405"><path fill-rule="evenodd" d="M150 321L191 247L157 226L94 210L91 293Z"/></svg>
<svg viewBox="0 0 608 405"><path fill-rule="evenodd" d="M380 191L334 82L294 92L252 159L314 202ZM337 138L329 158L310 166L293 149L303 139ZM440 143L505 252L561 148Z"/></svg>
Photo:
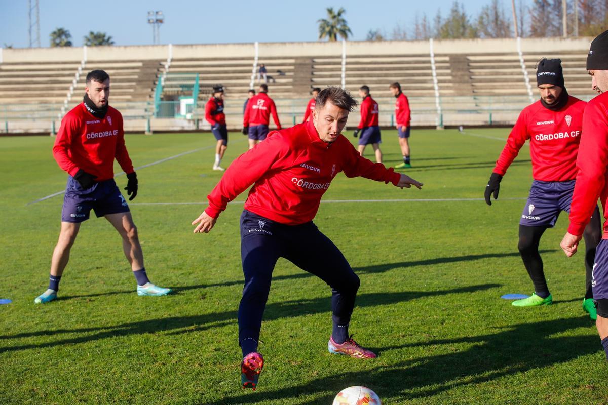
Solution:
<svg viewBox="0 0 608 405"><path fill-rule="evenodd" d="M230 163L207 196L205 212L217 218L229 201L253 184L246 209L286 225L305 223L317 214L321 197L341 171L347 177L361 176L393 185L401 178L393 168L361 157L343 135L325 143L313 121L308 121L272 131L265 141Z"/></svg>

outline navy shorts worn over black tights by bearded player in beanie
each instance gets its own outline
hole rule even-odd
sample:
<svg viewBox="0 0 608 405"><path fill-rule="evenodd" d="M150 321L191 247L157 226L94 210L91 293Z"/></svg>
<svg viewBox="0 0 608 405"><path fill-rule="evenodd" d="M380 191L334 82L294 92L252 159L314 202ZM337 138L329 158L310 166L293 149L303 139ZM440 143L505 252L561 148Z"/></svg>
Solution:
<svg viewBox="0 0 608 405"><path fill-rule="evenodd" d="M567 182L534 180L519 225L553 227L559 213L570 212L574 183L575 180Z"/></svg>

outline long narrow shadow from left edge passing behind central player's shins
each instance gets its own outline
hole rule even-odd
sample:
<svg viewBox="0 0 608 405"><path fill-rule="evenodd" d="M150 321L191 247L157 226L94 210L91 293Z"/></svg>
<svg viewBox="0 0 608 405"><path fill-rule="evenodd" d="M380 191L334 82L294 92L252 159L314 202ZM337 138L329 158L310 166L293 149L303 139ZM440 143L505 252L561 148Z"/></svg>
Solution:
<svg viewBox="0 0 608 405"><path fill-rule="evenodd" d="M443 296L446 294L474 293L475 291L488 290L500 287L500 284L481 284L468 287L452 288L450 290L438 291L402 291L399 293L368 293L357 297L358 307L375 307L378 305L390 305L397 302L410 301L423 297ZM329 291L328 291L329 292ZM328 313L328 325L331 324L331 297L293 300L275 302L266 305L264 321L272 321L286 317L311 315L316 313ZM355 309L356 311L356 309ZM179 335L196 331L207 330L213 327L223 327L233 324L237 319L237 311L223 311L195 316L173 316L162 319L151 319L148 321L131 322L108 327L87 327L75 329L41 330L38 332L19 333L12 336L0 336L0 339L18 339L32 336L57 336L63 333L92 333L90 335L77 336L75 338L58 339L40 344L26 344L0 347L2 352L15 352L18 350L37 349L41 347L55 347L65 344L77 344L99 339L116 338L117 336L141 335L144 333L170 332L170 335ZM329 326L328 326L329 327ZM235 337L236 340L236 337ZM235 343L236 347L236 343Z"/></svg>

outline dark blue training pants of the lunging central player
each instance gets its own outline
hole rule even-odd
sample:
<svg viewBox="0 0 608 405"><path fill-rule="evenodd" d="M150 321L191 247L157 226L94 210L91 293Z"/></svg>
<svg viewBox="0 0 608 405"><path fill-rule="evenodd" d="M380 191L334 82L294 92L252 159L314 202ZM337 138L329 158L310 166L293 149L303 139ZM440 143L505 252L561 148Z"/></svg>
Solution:
<svg viewBox="0 0 608 405"><path fill-rule="evenodd" d="M245 286L238 307L238 342L260 339L272 270L279 257L319 277L331 287L333 320L350 322L359 277L331 240L314 223L282 225L250 211L241 215L241 259Z"/></svg>

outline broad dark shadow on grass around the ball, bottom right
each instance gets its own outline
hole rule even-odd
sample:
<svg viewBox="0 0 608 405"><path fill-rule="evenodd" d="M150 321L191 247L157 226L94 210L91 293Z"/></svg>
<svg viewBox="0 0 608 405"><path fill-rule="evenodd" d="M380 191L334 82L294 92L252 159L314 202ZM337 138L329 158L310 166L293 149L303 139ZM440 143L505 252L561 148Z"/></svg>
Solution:
<svg viewBox="0 0 608 405"><path fill-rule="evenodd" d="M418 357L373 367L371 370L366 368L361 372L340 372L340 362L337 362L334 375L278 390L264 387L261 376L261 389L255 395L243 392L212 404L241 404L245 400L251 404L263 401L272 403L314 393L320 395L306 404L329 404L341 389L356 385L372 387L381 398L390 398L391 403L427 398L456 387L486 383L598 352L600 346L596 336L554 336L580 327L590 327L589 319L570 318L517 324L491 335L406 344L390 349L428 347L437 351L436 346L440 346L442 352L449 353ZM466 349L451 347L461 344L469 346ZM384 350L386 349L389 348Z"/></svg>

